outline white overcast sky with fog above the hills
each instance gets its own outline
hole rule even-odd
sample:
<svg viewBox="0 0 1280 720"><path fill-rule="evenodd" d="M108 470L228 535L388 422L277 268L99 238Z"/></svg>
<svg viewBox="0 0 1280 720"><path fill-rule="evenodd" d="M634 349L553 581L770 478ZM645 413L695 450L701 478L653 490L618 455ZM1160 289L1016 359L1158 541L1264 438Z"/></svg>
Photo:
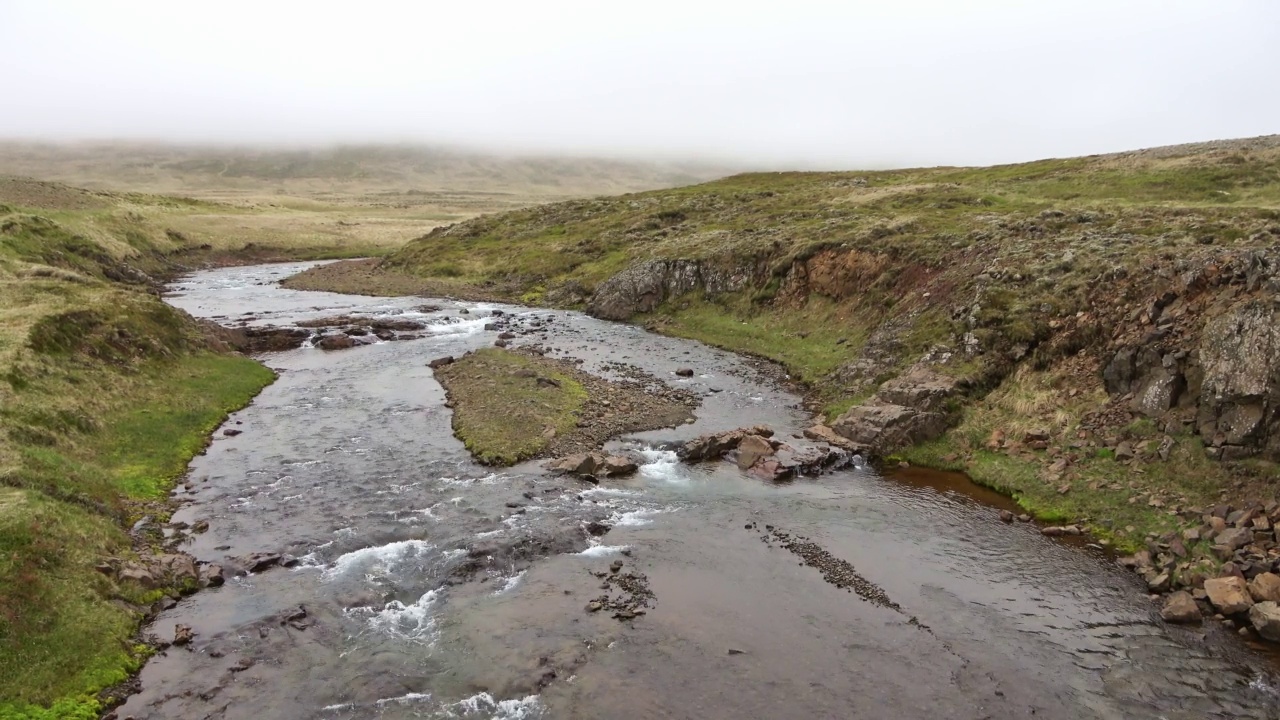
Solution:
<svg viewBox="0 0 1280 720"><path fill-rule="evenodd" d="M986 164L1280 132L1276 0L0 0L0 137Z"/></svg>

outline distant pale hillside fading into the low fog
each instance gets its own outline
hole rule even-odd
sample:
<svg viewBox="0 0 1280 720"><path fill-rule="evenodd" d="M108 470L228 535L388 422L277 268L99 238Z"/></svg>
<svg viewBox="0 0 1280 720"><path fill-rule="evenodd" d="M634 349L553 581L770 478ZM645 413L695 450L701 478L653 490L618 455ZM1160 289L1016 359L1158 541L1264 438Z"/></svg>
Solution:
<svg viewBox="0 0 1280 720"><path fill-rule="evenodd" d="M420 193L563 199L689 184L727 174L695 163L495 155L424 145L315 149L142 142L0 142L0 173L93 190L317 199Z"/></svg>

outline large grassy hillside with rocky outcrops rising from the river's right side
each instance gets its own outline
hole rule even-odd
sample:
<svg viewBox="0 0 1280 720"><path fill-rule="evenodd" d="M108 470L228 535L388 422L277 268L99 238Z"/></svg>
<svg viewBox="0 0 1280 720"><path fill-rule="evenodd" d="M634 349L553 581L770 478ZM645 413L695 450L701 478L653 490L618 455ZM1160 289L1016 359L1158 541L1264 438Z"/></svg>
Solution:
<svg viewBox="0 0 1280 720"><path fill-rule="evenodd" d="M486 215L289 282L580 307L762 355L882 457L1155 557L1219 503L1276 500L1277 242L1271 136L742 174ZM1174 585L1274 560L1188 544Z"/></svg>

